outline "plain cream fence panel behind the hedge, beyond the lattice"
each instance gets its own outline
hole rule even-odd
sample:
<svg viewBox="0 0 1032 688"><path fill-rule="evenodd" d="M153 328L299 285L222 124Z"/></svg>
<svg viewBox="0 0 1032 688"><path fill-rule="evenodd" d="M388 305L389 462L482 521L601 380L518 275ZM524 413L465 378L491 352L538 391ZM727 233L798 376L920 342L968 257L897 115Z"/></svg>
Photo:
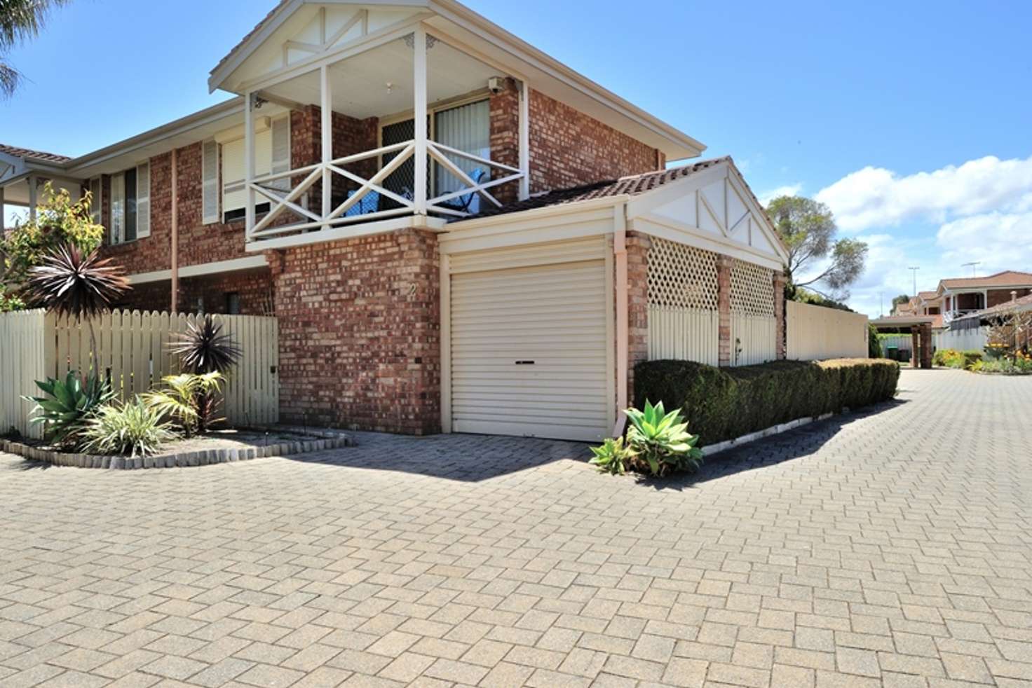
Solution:
<svg viewBox="0 0 1032 688"><path fill-rule="evenodd" d="M867 358L867 316L798 301L784 306L789 360Z"/></svg>

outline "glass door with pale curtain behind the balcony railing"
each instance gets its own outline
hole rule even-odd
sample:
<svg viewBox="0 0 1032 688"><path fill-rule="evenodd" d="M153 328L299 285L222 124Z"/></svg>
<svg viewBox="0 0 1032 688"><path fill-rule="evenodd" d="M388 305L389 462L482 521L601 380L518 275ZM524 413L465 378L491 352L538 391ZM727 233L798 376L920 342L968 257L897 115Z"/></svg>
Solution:
<svg viewBox="0 0 1032 688"><path fill-rule="evenodd" d="M490 160L491 158L491 124L490 102L479 100L475 103L459 105L440 110L433 116L433 140L453 149L464 151L471 155ZM483 163L478 163L453 154L445 154L448 159L475 181L484 182L490 177L491 170ZM479 171L478 171L479 170ZM466 188L462 179L446 169L443 165L433 165L434 194L440 196ZM449 201L451 204L464 204L466 212L477 212L480 209L480 195L472 197L460 196Z"/></svg>

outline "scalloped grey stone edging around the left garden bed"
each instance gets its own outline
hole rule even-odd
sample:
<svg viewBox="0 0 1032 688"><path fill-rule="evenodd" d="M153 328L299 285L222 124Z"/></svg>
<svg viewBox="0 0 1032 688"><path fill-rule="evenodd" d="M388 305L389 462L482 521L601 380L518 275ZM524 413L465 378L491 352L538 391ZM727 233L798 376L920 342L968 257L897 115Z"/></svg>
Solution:
<svg viewBox="0 0 1032 688"><path fill-rule="evenodd" d="M207 449L162 456L95 456L91 454L67 454L38 447L30 447L12 439L0 439L0 451L17 454L27 459L43 461L55 466L74 466L77 468L185 468L188 466L207 466L215 463L230 463L248 461L269 456L293 456L309 452L323 452L328 449L354 447L355 440L350 435L332 430L313 430L293 426L277 426L283 432L309 434L316 439L275 443L265 447L239 447L234 449Z"/></svg>

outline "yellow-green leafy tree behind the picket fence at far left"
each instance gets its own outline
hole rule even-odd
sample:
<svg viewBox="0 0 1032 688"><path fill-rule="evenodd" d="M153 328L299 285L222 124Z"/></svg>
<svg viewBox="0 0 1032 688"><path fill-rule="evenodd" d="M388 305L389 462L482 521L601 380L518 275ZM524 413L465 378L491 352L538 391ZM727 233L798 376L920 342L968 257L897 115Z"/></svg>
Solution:
<svg viewBox="0 0 1032 688"><path fill-rule="evenodd" d="M41 265L59 247L67 244L90 254L100 245L104 228L93 222L90 202L89 192L72 202L66 190L55 192L46 183L36 219L14 225L0 237L0 295L6 295L0 297L0 303L6 300L18 303L15 299L32 268Z"/></svg>

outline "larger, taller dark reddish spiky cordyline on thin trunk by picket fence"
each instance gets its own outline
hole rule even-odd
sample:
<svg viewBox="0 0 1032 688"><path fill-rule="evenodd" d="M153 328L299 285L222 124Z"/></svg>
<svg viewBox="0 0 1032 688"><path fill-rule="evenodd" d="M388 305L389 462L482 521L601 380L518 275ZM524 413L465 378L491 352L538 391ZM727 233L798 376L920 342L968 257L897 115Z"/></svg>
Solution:
<svg viewBox="0 0 1032 688"><path fill-rule="evenodd" d="M32 302L59 316L79 322L86 319L94 361L97 339L93 318L130 289L122 267L110 262L96 251L84 255L75 247L60 245L30 270L27 294Z"/></svg>

